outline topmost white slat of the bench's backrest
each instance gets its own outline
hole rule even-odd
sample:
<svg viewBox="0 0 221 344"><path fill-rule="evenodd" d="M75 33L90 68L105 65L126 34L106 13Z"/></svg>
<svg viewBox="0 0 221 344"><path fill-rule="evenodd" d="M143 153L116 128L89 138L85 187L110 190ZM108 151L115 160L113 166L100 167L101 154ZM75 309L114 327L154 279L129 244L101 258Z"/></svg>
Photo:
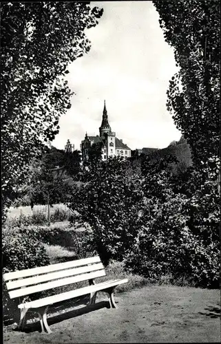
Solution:
<svg viewBox="0 0 221 344"><path fill-rule="evenodd" d="M65 263L52 264L49 266L40 266L39 268L17 270L14 272L6 272L6 274L3 275L3 279L4 281L11 281L12 279L19 279L22 277L41 275L41 274L45 274L52 271L59 271L59 270L64 270L68 268L76 268L78 266L85 266L87 264L94 264L94 263L99 263L99 262L101 262L101 259L99 256L78 259L74 261L67 261Z"/></svg>

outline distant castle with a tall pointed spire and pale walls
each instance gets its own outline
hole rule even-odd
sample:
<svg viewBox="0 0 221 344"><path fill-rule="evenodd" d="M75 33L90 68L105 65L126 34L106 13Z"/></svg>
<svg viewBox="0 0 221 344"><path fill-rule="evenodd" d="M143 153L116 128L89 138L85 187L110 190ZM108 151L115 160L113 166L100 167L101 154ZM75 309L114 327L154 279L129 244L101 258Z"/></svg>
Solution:
<svg viewBox="0 0 221 344"><path fill-rule="evenodd" d="M121 156L123 157L123 160L127 160L127 158L131 157L131 149L127 147L127 144L123 143L123 140L116 137L116 133L112 131L112 128L109 125L106 104L103 109L99 133L100 136L87 136L87 133L85 134L85 139L81 141L83 161L88 159L88 150L92 144L98 142L101 142L102 144L102 160L107 160L107 158L114 156Z"/></svg>

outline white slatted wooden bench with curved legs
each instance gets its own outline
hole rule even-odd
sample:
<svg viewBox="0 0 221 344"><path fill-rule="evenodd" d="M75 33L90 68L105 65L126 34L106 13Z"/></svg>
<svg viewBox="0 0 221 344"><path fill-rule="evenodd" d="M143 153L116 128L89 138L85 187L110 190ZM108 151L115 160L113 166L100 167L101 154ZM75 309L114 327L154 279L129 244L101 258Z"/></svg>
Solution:
<svg viewBox="0 0 221 344"><path fill-rule="evenodd" d="M23 330L25 326L25 315L28 310L34 310L39 314L42 332L51 333L47 323L47 311L49 305L53 303L74 299L85 294L90 294L90 302L92 305L96 300L97 292L107 292L110 308L117 308L114 301L114 288L122 283L127 283L127 279L109 280L102 283L95 283L96 277L105 276L105 268L101 263L100 257L92 257L67 261L65 263L52 264L49 266L41 266L27 270L17 270L15 272L7 272L3 275L4 281L10 299L19 298L18 307L21 310L19 321L19 330ZM60 294L43 297L34 301L25 302L27 295L50 290L61 286L67 286L80 281L89 281L89 286L62 292Z"/></svg>

